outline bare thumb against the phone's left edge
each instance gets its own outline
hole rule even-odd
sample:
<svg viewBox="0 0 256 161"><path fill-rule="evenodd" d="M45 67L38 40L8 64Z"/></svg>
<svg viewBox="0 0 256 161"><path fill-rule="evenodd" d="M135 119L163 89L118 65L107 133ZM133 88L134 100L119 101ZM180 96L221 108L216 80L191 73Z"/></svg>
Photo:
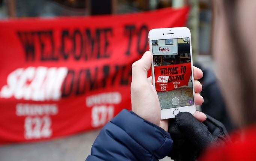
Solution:
<svg viewBox="0 0 256 161"><path fill-rule="evenodd" d="M148 81L148 70L151 67L152 54L146 51L142 58L132 65L132 80L135 82Z"/></svg>

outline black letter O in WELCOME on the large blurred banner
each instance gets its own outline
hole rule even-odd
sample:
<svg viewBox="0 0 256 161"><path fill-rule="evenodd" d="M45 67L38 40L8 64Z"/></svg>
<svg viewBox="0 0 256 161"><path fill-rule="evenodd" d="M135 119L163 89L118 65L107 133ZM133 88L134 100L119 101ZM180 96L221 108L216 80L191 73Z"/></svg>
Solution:
<svg viewBox="0 0 256 161"><path fill-rule="evenodd" d="M78 42L80 42L80 45L78 45ZM80 50L78 50L77 48L80 48ZM80 30L75 30L73 34L73 54L74 54L75 60L80 60L82 56L82 51L83 51L83 36Z"/></svg>

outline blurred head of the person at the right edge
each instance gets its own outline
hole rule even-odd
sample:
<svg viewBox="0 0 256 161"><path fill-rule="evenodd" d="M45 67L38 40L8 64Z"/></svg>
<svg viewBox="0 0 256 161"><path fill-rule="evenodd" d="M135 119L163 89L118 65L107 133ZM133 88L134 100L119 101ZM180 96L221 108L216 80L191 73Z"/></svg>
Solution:
<svg viewBox="0 0 256 161"><path fill-rule="evenodd" d="M256 1L213 0L212 52L233 121L256 123Z"/></svg>

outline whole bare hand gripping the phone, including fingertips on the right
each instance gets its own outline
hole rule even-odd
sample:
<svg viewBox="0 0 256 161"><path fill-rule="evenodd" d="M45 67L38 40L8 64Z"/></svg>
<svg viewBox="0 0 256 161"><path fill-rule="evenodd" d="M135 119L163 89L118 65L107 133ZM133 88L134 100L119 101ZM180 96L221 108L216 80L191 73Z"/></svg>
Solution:
<svg viewBox="0 0 256 161"><path fill-rule="evenodd" d="M132 83L131 83L131 104L132 110L143 119L156 124L164 130L168 130L168 119L161 120L161 107L157 96L157 91L152 84L152 78L148 76L148 70L152 63L152 54L147 51L142 58L132 65ZM194 89L196 104L203 103L203 97L199 92L202 91L202 85L197 79L202 78L203 72L194 67ZM206 116L201 112L196 112L194 116L204 121Z"/></svg>

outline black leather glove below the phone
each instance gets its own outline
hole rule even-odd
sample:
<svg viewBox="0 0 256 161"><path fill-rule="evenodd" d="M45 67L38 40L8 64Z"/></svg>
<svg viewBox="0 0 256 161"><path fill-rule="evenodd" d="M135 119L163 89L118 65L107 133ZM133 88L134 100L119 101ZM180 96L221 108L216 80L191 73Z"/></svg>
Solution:
<svg viewBox="0 0 256 161"><path fill-rule="evenodd" d="M229 142L224 125L206 116L207 119L200 122L191 113L181 112L175 119L170 119L168 132L173 139L173 149L169 157L175 161L193 161L209 145Z"/></svg>

